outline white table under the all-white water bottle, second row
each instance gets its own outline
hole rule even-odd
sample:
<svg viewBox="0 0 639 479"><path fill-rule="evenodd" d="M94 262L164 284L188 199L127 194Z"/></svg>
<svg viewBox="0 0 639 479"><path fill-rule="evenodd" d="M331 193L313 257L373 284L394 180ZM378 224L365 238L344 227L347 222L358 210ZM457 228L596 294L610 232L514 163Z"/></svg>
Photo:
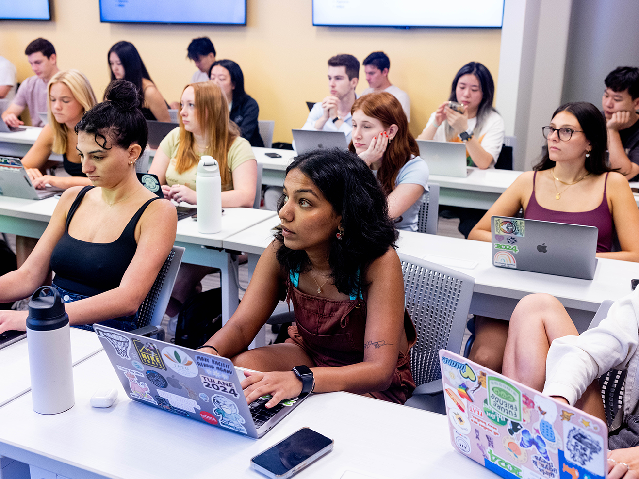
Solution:
<svg viewBox="0 0 639 479"><path fill-rule="evenodd" d="M40 238L58 200L26 200L0 197L0 231ZM275 211L252 208L225 208L222 214L222 231L202 234L192 218L178 221L176 246L185 247L183 262L220 268L222 271L222 321L233 315L238 305L237 261L222 247L222 239L275 216ZM232 269L235 269L235 274Z"/></svg>

